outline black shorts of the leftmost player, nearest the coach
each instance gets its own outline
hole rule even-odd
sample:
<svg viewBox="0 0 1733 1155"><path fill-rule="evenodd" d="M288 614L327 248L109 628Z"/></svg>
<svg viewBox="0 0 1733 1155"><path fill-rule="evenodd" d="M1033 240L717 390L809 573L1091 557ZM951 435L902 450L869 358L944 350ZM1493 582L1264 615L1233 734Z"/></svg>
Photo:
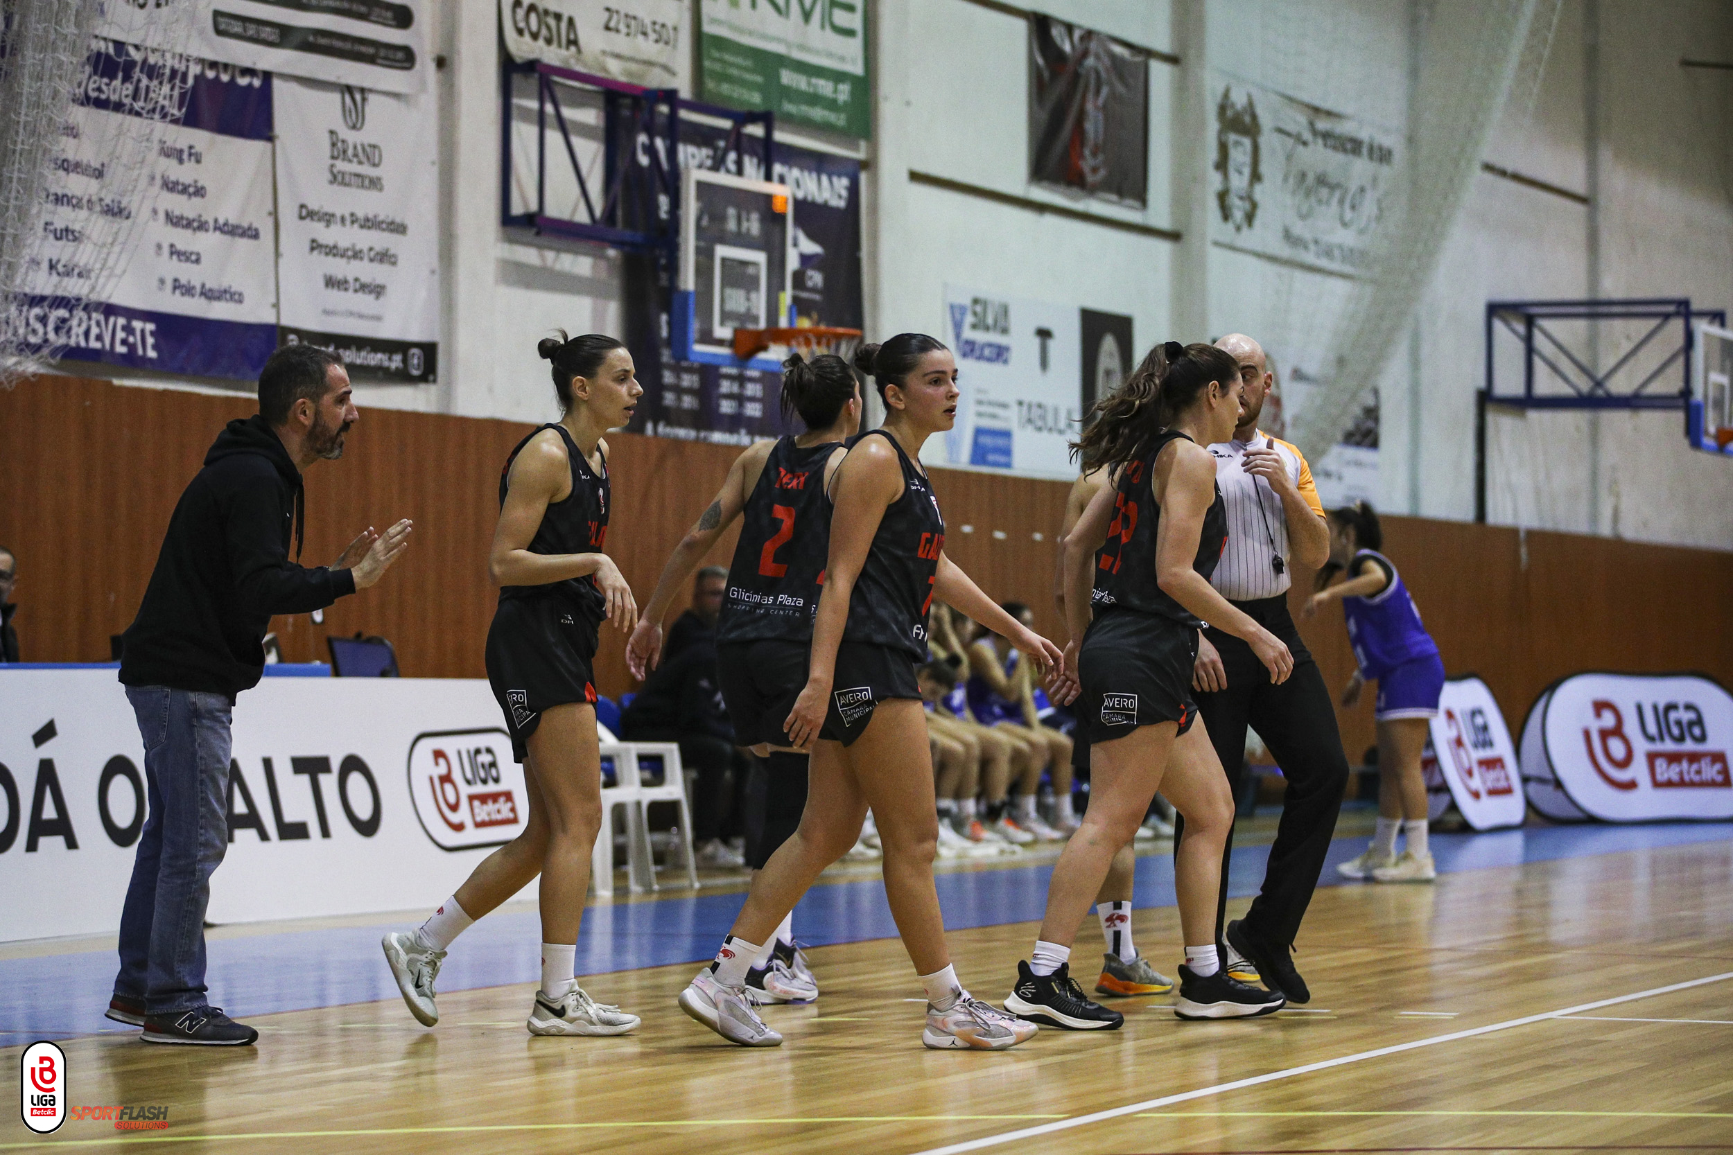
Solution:
<svg viewBox="0 0 1733 1155"><path fill-rule="evenodd" d="M511 757L529 757L542 710L596 700L598 622L553 597L506 597L487 629L487 684L506 715Z"/></svg>

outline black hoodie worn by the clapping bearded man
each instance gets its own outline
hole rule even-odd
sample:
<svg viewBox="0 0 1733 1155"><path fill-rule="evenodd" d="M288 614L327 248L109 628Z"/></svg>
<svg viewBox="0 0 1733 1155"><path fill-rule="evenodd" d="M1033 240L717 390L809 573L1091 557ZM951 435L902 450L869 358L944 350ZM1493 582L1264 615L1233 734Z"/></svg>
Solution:
<svg viewBox="0 0 1733 1155"><path fill-rule="evenodd" d="M258 414L217 435L168 519L139 616L123 636L120 681L234 698L265 670L277 613L324 610L355 592L348 570L303 570L302 473Z"/></svg>

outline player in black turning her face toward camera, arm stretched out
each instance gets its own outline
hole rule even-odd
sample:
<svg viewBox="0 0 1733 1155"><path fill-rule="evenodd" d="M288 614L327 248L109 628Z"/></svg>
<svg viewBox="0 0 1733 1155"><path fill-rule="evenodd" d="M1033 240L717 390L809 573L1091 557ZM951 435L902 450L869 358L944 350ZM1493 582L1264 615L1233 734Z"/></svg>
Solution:
<svg viewBox="0 0 1733 1155"><path fill-rule="evenodd" d="M938 810L915 665L925 661L934 596L1009 637L1043 670L1061 655L944 556L944 518L915 461L925 440L957 419L951 352L905 332L863 346L854 365L877 379L886 421L854 440L832 480L830 554L809 670L783 724L792 745L813 745L806 812L754 880L716 963L679 1003L731 1042L782 1042L743 997L747 966L818 873L854 845L872 807L891 914L927 990L922 1042L1003 1049L1029 1039L1035 1025L972 999L951 970L932 885Z"/></svg>

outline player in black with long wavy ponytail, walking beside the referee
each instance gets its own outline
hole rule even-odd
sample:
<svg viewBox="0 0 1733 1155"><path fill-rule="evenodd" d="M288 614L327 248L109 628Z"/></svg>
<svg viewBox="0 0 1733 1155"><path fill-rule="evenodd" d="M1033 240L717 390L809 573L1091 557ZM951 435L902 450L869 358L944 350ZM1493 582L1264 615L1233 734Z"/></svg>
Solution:
<svg viewBox="0 0 1733 1155"><path fill-rule="evenodd" d="M1073 1030L1125 1022L1088 1001L1066 965L1113 855L1137 835L1158 788L1185 816L1175 890L1187 945L1175 1013L1239 1018L1282 1006L1281 996L1230 978L1217 959L1215 894L1234 798L1208 734L1194 726L1191 700L1203 616L1244 637L1270 681L1293 670L1288 648L1210 585L1227 514L1215 459L1203 447L1234 431L1239 367L1211 345L1177 341L1146 365L1097 402L1095 423L1076 443L1085 469L1109 468L1114 480L1064 542L1066 665L1083 689L1090 805L1054 868L1033 963L1017 965L1005 999L1012 1013Z"/></svg>

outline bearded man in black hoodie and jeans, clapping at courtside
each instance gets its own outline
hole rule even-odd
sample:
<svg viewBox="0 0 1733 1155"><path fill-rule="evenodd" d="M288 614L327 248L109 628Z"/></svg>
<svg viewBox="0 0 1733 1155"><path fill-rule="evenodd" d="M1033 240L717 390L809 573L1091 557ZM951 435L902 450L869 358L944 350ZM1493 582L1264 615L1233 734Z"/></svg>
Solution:
<svg viewBox="0 0 1733 1155"><path fill-rule="evenodd" d="M281 348L258 376L258 414L230 421L168 521L125 634L120 681L144 736L149 817L120 921L107 1016L146 1042L244 1046L258 1037L206 1001L204 907L229 849L229 722L265 670L272 615L367 589L409 544L409 521L371 528L331 566L298 565L302 469L343 455L359 414L343 364ZM295 558L289 558L289 545Z"/></svg>

